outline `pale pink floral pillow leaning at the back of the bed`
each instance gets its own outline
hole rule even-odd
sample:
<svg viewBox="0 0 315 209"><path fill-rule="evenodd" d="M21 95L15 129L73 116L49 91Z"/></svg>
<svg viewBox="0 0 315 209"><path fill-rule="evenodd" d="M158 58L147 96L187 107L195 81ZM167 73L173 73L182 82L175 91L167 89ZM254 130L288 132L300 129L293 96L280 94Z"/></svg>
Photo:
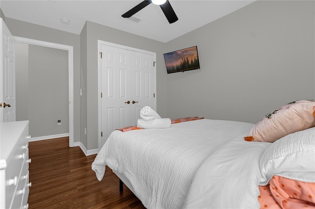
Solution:
<svg viewBox="0 0 315 209"><path fill-rule="evenodd" d="M315 127L315 101L300 100L276 109L261 119L246 141L275 142L289 133Z"/></svg>

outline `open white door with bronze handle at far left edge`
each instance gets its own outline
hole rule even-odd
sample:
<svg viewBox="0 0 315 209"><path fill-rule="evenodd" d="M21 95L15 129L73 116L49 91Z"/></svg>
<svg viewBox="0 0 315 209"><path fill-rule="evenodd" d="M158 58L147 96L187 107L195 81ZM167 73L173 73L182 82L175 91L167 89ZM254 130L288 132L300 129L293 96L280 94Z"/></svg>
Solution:
<svg viewBox="0 0 315 209"><path fill-rule="evenodd" d="M15 42L1 19L0 122L15 121Z"/></svg>

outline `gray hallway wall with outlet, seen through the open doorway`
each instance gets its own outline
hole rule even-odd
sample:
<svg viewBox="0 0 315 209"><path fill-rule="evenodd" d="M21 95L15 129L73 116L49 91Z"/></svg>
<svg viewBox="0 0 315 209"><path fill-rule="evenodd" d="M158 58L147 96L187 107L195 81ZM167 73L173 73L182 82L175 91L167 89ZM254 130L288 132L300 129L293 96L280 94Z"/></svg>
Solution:
<svg viewBox="0 0 315 209"><path fill-rule="evenodd" d="M29 45L29 120L32 137L69 132L68 85L68 52ZM59 119L62 120L61 125L57 125Z"/></svg>

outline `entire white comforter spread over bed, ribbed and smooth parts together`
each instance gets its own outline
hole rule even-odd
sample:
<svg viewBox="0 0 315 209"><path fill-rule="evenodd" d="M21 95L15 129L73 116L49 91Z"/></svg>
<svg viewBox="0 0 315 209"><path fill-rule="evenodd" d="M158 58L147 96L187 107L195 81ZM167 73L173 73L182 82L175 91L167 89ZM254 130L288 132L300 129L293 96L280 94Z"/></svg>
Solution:
<svg viewBox="0 0 315 209"><path fill-rule="evenodd" d="M268 143L244 141L252 126L203 119L113 131L92 169L99 181L105 165L122 173L149 209L259 208L258 159Z"/></svg>

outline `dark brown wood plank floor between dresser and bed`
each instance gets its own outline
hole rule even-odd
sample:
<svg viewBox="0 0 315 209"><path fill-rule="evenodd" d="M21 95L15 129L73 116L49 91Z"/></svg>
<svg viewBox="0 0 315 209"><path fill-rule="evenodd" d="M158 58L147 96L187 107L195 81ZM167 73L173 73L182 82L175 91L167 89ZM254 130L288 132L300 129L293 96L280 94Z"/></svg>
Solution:
<svg viewBox="0 0 315 209"><path fill-rule="evenodd" d="M103 180L96 179L91 164L79 147L69 147L68 137L29 143L30 209L145 209L118 177L106 167Z"/></svg>

